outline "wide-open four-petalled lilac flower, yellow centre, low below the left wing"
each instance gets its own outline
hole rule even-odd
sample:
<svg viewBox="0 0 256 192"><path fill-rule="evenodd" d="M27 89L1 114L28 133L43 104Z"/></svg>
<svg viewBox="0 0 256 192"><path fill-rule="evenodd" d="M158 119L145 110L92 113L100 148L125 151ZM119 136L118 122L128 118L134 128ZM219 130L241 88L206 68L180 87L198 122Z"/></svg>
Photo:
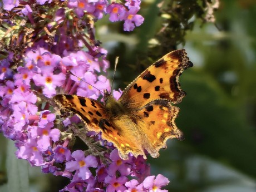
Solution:
<svg viewBox="0 0 256 192"><path fill-rule="evenodd" d="M91 176L91 171L88 168L96 168L98 163L95 156L85 154L82 150L76 150L71 155L75 160L66 163L66 170L77 171L79 178L85 180Z"/></svg>

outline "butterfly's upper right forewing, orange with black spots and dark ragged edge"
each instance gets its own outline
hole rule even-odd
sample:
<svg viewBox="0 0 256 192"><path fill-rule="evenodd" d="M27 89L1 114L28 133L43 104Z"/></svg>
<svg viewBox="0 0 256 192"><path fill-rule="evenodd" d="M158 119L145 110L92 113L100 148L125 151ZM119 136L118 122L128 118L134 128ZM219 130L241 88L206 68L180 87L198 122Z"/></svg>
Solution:
<svg viewBox="0 0 256 192"><path fill-rule="evenodd" d="M172 51L132 81L119 101L130 109L142 107L156 99L166 99L178 104L186 95L180 88L179 76L192 66L185 50Z"/></svg>

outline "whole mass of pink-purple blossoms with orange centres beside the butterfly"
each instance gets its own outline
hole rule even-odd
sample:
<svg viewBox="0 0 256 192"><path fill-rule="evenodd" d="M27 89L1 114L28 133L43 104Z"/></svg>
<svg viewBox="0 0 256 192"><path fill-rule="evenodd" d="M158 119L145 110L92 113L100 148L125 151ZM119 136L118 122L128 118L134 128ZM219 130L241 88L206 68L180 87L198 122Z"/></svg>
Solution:
<svg viewBox="0 0 256 192"><path fill-rule="evenodd" d="M48 9L52 6L49 4L52 1L46 0L33 3L34 7L35 4L48 6ZM57 10L53 21L63 23L67 10L72 10L77 18L90 13L100 19L107 13L110 21L125 21L124 30L132 31L144 20L136 14L139 5L139 0L126 1L125 4L70 0ZM27 23L37 24L32 7L26 1L3 0L3 7L8 11L17 7L17 14L27 19ZM8 12L3 15L8 16ZM12 21L6 23L13 24ZM68 36L66 26L62 26L57 28L51 43L46 42L45 35L19 56L5 50L8 55L0 60L0 131L16 141L19 159L26 159L32 166L41 166L43 173L70 178L70 184L61 191L167 191L161 188L169 180L163 175L150 176L150 166L142 156L135 158L130 155L128 160L122 160L115 147L102 141L100 134L86 134L87 138L102 144L105 151L100 155L95 155L96 152L90 149L72 150L70 126L81 125L81 120L76 115L65 118L56 115L51 97L68 93L98 99L101 96L99 90L110 91L110 82L106 78L109 67L107 51L95 43L94 30L86 26L90 41L82 41L81 37L75 41L75 37ZM51 24L47 25L48 31L51 27ZM17 59L21 61L18 64ZM118 99L121 91L113 94Z"/></svg>

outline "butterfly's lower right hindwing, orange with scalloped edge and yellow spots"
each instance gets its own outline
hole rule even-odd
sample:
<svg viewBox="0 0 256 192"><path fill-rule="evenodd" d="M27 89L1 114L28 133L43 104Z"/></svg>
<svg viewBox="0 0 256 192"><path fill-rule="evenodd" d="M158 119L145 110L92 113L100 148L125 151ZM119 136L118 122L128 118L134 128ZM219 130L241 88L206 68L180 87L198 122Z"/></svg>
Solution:
<svg viewBox="0 0 256 192"><path fill-rule="evenodd" d="M154 100L134 112L136 112L134 118L137 121L137 127L144 134L141 146L152 157L159 156L159 150L166 147L168 139L185 139L183 132L174 122L178 116L179 107L172 106L170 101Z"/></svg>

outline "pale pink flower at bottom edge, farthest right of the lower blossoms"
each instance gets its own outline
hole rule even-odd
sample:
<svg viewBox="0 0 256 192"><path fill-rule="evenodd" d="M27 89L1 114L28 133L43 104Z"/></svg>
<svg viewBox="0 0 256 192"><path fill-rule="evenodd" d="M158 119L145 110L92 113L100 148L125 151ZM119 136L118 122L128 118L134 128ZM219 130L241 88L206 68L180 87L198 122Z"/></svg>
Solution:
<svg viewBox="0 0 256 192"><path fill-rule="evenodd" d="M169 184L169 180L165 178L165 176L159 174L156 176L148 176L144 181L143 181L143 186L149 192L168 192L168 190L161 189L163 186L166 186Z"/></svg>

